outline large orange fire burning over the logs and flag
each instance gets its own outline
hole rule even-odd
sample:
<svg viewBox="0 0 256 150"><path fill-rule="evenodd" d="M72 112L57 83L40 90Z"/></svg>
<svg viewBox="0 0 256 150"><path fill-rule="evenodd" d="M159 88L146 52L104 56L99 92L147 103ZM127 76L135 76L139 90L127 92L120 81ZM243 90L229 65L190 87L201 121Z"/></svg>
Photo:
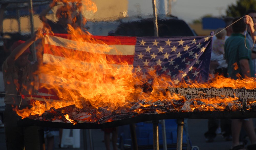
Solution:
<svg viewBox="0 0 256 150"><path fill-rule="evenodd" d="M76 6L80 12L84 9L91 10L93 12L97 11L96 5L90 0L62 0L61 2L64 4L76 3ZM32 108L17 110L18 115L22 116L22 118L33 115L40 116L45 111L52 110L52 108L59 109L70 105L75 105L79 109L88 107L87 110L105 108L111 114L111 112L115 110L129 110L134 103L137 103L140 100L145 101L144 103L140 103L145 108L157 101L168 101L172 105L177 105L178 101L189 101L182 95L170 94L170 92L166 91L166 88L168 87L231 87L234 89L254 89L256 85L254 78L233 80L230 78L224 78L223 76L216 76L211 81L204 84L197 82L186 83L184 81L175 84L174 81L170 80L169 78L161 77L154 78L154 82L152 83L151 87L152 90L143 92L144 89L141 87L137 88L135 84L142 85L145 83L145 81L138 77L135 78L134 74L132 73L132 65L128 65L128 63L114 65L114 61L116 60L109 60L106 58L106 53L110 52L111 50L115 50L113 47L109 47L100 40L93 39L91 34L83 31L81 28L73 28L71 25L68 25L68 29L70 34L68 39L77 42L66 45L66 47L72 47L73 49L82 50L83 52L75 52L75 50L70 50L64 54L64 48L62 49L61 47L56 47L54 53L58 53L59 55L64 54L62 57L65 57L65 59L59 59L52 65L42 65L38 69L39 78L40 75L47 75L47 83L41 83L39 89L45 88L49 91L54 89L54 92L57 94L59 100L45 98L45 102L43 103L40 101L34 101L32 103ZM48 36L46 35L45 38L48 38ZM93 45L90 43L93 43ZM95 46L95 44L97 44L97 46ZM152 77L154 77L154 72L152 72ZM191 106L192 108L190 111L195 109L201 111L214 111L216 108L218 108L219 111L223 111L226 104L236 103L238 98L215 97L195 100L196 101L193 103L193 106ZM197 104L199 102L204 104ZM143 113L145 109L140 108L132 111L140 114ZM186 110L179 110L177 108L177 111ZM157 112L163 113L163 111ZM84 116L89 114L89 111L83 112ZM73 122L72 119L69 119L70 115L71 114L66 115L65 117L70 122ZM79 116L77 118L86 121L92 120L91 118L87 119L84 116ZM103 117L101 112L99 112L97 116L98 118Z"/></svg>

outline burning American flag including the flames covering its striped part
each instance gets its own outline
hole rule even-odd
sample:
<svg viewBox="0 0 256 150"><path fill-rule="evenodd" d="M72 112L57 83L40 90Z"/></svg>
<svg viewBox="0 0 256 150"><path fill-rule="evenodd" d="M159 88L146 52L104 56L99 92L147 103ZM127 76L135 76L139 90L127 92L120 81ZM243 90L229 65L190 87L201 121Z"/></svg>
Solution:
<svg viewBox="0 0 256 150"><path fill-rule="evenodd" d="M126 101L137 101L133 96L139 92L135 84L149 82L166 88L208 78L211 37L92 36L81 35L77 30L72 33L45 36L38 95L28 96L36 100L36 108L29 110L31 115L73 104L83 108L81 100L95 108L107 106L116 110ZM19 115L27 117L29 113Z"/></svg>

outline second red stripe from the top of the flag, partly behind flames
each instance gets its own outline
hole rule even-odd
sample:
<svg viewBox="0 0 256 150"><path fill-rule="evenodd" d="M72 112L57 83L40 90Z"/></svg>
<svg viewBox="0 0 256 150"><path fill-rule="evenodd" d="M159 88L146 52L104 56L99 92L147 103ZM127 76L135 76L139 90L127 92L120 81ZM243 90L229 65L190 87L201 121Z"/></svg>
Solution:
<svg viewBox="0 0 256 150"><path fill-rule="evenodd" d="M110 64L123 64L127 62L128 65L132 65L134 60L133 55L95 54L95 53L90 53L86 51L73 50L73 49L63 48L60 46L48 45L48 44L45 44L45 47L44 47L44 54L46 53L54 56L60 56L60 57L80 60L80 61L86 61L88 58L90 58L90 56L95 58L95 56L93 55L97 55L97 58L102 57L104 55L106 57L106 60L108 60ZM74 53L75 55L72 55ZM67 54L71 54L71 55L68 56ZM83 57L77 57L77 56L83 56Z"/></svg>

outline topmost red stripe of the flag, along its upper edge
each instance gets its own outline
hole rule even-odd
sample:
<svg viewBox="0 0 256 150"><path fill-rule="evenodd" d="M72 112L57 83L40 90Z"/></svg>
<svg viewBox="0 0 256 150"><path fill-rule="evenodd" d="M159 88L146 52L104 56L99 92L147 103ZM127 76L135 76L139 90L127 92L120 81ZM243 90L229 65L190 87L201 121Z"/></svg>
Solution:
<svg viewBox="0 0 256 150"><path fill-rule="evenodd" d="M70 39L69 34L54 34L54 36ZM88 36L84 35L84 42L102 43L107 45L136 45L136 37L122 36Z"/></svg>

